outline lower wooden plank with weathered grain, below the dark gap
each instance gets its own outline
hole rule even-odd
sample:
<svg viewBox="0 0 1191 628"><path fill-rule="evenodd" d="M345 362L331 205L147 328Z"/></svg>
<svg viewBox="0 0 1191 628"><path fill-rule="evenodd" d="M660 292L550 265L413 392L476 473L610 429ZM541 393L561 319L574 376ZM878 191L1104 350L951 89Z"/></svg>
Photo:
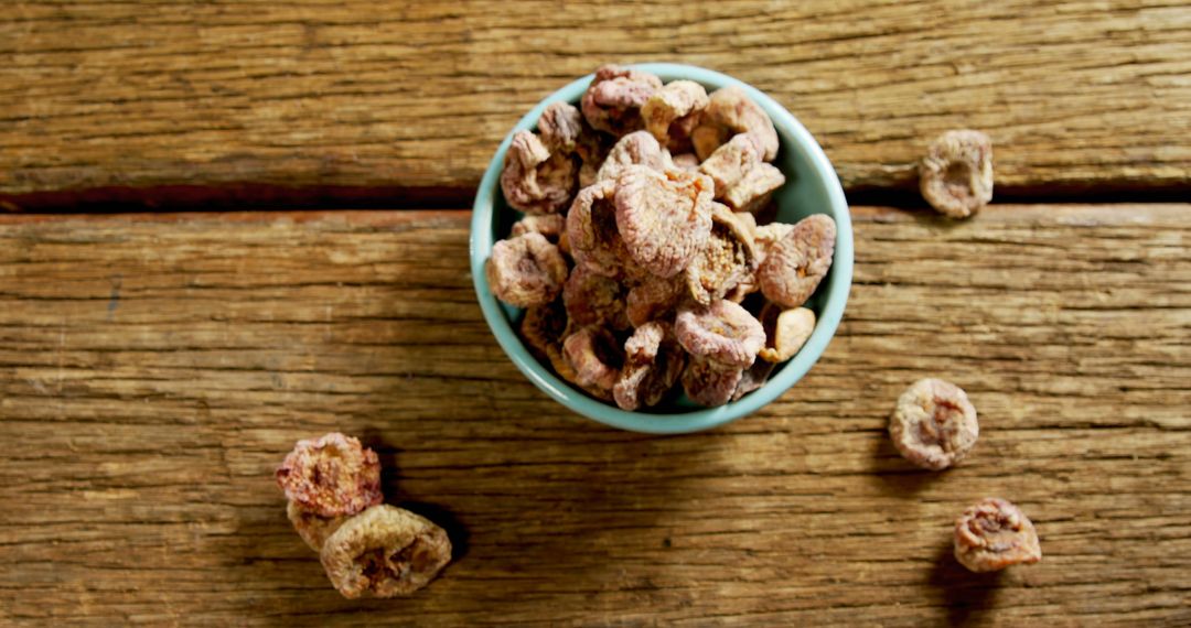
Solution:
<svg viewBox="0 0 1191 628"><path fill-rule="evenodd" d="M505 359L464 212L0 218L5 624L1186 624L1187 206L854 209L823 359L761 413L649 438L567 415ZM948 377L981 416L944 473L885 434ZM350 602L272 472L378 447L459 555ZM949 558L1019 503L1045 560Z"/></svg>

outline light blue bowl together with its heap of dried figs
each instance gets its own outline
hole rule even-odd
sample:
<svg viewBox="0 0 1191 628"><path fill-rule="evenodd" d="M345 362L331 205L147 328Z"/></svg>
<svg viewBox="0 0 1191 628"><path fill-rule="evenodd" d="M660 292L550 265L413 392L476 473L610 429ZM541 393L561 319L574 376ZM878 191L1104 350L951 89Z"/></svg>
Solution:
<svg viewBox="0 0 1191 628"><path fill-rule="evenodd" d="M484 316L535 385L654 434L790 389L852 285L848 205L806 128L673 63L604 65L522 118L480 183L470 253Z"/></svg>

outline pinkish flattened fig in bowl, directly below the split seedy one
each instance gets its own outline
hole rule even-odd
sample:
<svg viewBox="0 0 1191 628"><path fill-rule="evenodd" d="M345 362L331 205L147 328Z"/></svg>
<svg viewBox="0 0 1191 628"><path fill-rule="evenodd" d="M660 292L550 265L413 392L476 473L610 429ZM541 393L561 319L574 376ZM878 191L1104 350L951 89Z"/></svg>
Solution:
<svg viewBox="0 0 1191 628"><path fill-rule="evenodd" d="M731 301L679 309L674 331L679 344L692 356L741 369L752 366L765 346L761 322Z"/></svg>

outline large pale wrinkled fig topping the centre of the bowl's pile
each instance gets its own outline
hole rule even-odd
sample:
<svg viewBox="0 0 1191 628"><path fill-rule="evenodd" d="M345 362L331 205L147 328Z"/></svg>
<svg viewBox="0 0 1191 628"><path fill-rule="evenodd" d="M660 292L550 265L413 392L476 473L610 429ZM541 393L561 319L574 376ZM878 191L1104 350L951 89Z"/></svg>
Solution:
<svg viewBox="0 0 1191 628"><path fill-rule="evenodd" d="M657 277L673 277L711 233L711 181L630 165L616 183L616 225L637 264Z"/></svg>

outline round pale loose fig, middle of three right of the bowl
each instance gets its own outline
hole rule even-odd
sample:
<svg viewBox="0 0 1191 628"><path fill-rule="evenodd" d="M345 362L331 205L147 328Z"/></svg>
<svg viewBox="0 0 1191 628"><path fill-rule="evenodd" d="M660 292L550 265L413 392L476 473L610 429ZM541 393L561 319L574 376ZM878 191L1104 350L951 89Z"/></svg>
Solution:
<svg viewBox="0 0 1191 628"><path fill-rule="evenodd" d="M942 379L919 379L897 400L890 437L903 458L940 471L960 461L980 435L967 394Z"/></svg>

